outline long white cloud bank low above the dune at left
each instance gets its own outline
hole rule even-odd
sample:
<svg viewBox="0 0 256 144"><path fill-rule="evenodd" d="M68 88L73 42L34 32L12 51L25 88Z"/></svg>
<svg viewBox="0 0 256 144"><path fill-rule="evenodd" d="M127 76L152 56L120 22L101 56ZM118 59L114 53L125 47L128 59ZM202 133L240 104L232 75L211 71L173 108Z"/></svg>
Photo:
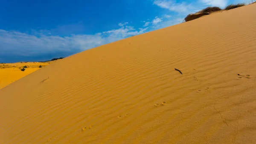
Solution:
<svg viewBox="0 0 256 144"><path fill-rule="evenodd" d="M148 29L136 30L127 24L119 23L119 29L95 35L71 35L69 37L49 35L49 31L35 31L29 34L0 29L0 55L31 56L52 52L81 52L125 37L142 34Z"/></svg>

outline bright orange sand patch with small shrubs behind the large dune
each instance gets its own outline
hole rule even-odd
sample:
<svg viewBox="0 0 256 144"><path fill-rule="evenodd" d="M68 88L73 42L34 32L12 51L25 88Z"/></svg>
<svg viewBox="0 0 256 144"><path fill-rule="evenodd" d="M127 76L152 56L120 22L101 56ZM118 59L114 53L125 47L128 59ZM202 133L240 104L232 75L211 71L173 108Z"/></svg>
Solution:
<svg viewBox="0 0 256 144"><path fill-rule="evenodd" d="M56 61L56 60L54 60ZM48 64L54 62L20 62L20 63L0 63L0 89L11 84L12 82L17 81L24 76L35 72L40 69L39 66L42 67L47 66ZM27 66L25 71L21 71L20 69L23 66Z"/></svg>

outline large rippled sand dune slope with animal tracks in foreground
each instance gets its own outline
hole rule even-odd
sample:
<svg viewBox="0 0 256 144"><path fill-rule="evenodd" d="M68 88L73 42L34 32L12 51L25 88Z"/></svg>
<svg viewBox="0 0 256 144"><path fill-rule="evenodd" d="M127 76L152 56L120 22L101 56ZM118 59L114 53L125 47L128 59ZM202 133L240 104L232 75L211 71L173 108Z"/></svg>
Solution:
<svg viewBox="0 0 256 144"><path fill-rule="evenodd" d="M254 143L255 9L90 49L0 89L0 143Z"/></svg>

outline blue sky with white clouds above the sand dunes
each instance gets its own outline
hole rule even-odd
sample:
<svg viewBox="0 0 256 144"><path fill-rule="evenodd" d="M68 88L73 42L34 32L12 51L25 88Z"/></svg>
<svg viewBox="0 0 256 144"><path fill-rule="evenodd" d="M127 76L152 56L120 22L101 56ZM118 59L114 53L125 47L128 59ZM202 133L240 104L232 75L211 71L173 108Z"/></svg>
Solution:
<svg viewBox="0 0 256 144"><path fill-rule="evenodd" d="M0 63L67 57L249 0L0 0Z"/></svg>

